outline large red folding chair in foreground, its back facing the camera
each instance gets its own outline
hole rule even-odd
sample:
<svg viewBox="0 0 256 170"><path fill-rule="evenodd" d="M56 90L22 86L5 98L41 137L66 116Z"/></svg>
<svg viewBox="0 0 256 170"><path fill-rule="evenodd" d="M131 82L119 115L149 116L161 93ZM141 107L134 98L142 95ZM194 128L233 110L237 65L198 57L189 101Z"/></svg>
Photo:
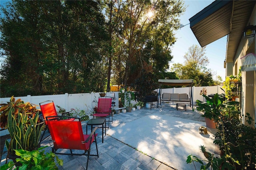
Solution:
<svg viewBox="0 0 256 170"><path fill-rule="evenodd" d="M66 120L60 120L60 119ZM57 119L57 121L56 121ZM68 121L68 119L75 119L75 121ZM59 120L59 121L58 121ZM83 134L82 125L80 118L78 117L68 117L68 116L50 116L46 117L46 122L52 136L53 147L52 152L54 154L64 154L64 155L86 155L87 164L86 170L88 168L89 156L98 156L98 146L96 142L95 133L97 127L92 130L91 134ZM90 148L92 142L95 142L97 155L90 154ZM58 150L61 149L61 150ZM69 149L70 153L65 152L63 149ZM73 153L72 150L84 150L83 153ZM57 152L58 150L58 152Z"/></svg>

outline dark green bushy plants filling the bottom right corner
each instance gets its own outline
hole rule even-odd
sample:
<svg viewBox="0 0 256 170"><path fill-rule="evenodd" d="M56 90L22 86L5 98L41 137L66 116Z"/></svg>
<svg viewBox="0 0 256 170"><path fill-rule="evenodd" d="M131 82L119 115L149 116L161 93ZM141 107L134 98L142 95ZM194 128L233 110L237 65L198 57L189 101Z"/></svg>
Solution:
<svg viewBox="0 0 256 170"><path fill-rule="evenodd" d="M200 169L227 169L227 170L252 170L256 165L256 128L252 125L254 121L249 113L245 118L248 126L244 125L239 118L240 112L232 106L234 101L228 101L228 109L222 108L224 115L221 116L214 143L220 146L220 157L215 156L206 150L205 146L200 146L205 159L200 159L194 155L188 155L187 164L199 162ZM228 111L228 113L226 113ZM232 114L230 114L232 113ZM194 164L195 165L195 164ZM211 168L210 168L211 166ZM196 168L196 167L195 167Z"/></svg>

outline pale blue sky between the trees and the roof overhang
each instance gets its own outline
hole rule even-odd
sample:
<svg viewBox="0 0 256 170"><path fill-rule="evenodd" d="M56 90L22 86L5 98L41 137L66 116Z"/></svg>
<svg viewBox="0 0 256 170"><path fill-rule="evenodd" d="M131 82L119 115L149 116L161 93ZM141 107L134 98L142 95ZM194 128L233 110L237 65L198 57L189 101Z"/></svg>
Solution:
<svg viewBox="0 0 256 170"><path fill-rule="evenodd" d="M206 6L210 5L213 1L214 0L184 0L184 4L187 6L187 8L184 15L180 17L180 23L183 25L188 25L184 26L176 32L177 41L172 47L172 55L174 57L170 63L170 66L172 66L173 63L183 64L183 56L188 51L188 48L193 44L196 44L200 47L200 44L190 29L189 19L204 9ZM226 43L227 36L206 46L206 56L210 61L207 68L212 69L212 73L220 75L223 81L225 80L224 59L226 57ZM214 79L215 77L216 76L214 76Z"/></svg>

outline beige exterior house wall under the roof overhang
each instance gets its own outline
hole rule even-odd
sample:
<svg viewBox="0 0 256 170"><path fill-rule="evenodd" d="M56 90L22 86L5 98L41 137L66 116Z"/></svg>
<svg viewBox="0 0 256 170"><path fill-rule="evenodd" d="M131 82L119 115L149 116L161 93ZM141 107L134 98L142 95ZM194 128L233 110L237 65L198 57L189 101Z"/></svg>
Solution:
<svg viewBox="0 0 256 170"><path fill-rule="evenodd" d="M252 15L247 23L251 25L256 25L256 5L254 6L254 10L252 11ZM241 33L242 36L242 33ZM233 59L232 63L232 74L237 75L240 66L242 65L241 57L247 55L248 53L256 53L256 36L252 38L244 38L242 36L238 49L236 51L236 55ZM230 65L229 65L230 66ZM236 68L237 67L237 68ZM235 70L237 69L237 74ZM226 67L226 75L230 71L230 68ZM250 113L250 116L256 120L256 76L255 71L242 71L242 94L241 94L241 112L242 115L246 115L246 113ZM245 118L243 117L243 123L247 124Z"/></svg>

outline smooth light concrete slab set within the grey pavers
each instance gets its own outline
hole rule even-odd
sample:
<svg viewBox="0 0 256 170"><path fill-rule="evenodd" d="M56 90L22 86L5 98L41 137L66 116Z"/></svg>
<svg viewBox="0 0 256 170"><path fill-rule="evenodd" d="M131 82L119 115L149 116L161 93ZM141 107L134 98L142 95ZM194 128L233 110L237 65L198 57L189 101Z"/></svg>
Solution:
<svg viewBox="0 0 256 170"><path fill-rule="evenodd" d="M186 164L189 154L204 158L200 145L209 152L215 150L211 130L206 135L199 134L198 128L203 125L204 122L152 113L111 128L107 134L174 169L191 170L194 165Z"/></svg>

